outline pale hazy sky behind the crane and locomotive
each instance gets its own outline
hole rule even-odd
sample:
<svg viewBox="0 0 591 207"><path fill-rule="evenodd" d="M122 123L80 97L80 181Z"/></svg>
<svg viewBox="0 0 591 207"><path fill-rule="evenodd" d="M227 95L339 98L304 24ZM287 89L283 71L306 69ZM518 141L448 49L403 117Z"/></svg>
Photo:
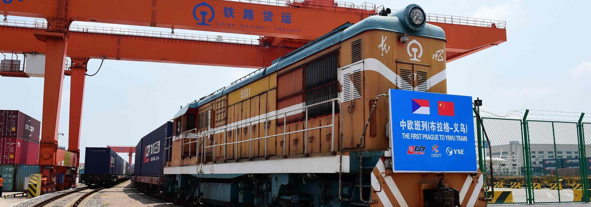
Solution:
<svg viewBox="0 0 591 207"><path fill-rule="evenodd" d="M521 109L591 111L591 31L586 21L591 2L378 0L372 3L392 9L418 4L428 13L507 22L507 42L447 64L450 94L479 97L484 100L482 109L496 114ZM81 24L95 25L74 22L74 25ZM170 31L167 28L115 27ZM180 29L176 32L213 34ZM99 64L100 60L90 60L88 73L94 73ZM170 120L181 105L206 96L251 71L253 69L106 60L98 75L86 78L81 162L84 162L85 147L135 146L142 136ZM0 109L21 110L41 120L43 78L0 77L0 88L4 91ZM69 88L70 78L66 77L59 127L59 132L66 135L60 137L60 145L67 145Z"/></svg>

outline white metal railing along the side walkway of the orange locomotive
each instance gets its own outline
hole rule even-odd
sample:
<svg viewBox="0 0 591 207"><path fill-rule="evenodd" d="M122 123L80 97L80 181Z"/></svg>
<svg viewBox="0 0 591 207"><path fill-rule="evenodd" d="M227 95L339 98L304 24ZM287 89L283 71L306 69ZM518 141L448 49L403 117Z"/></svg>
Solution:
<svg viewBox="0 0 591 207"><path fill-rule="evenodd" d="M332 107L332 113L330 114L331 116L331 122L330 124L327 124L325 126L319 126L319 127L312 127L309 128L308 127L308 120L309 120L309 116L308 116L308 109L310 107L314 107L314 106L319 106L320 104L326 104L326 103L331 103L331 107ZM173 136L173 137L167 137L165 143L171 143L168 140L180 140L180 144L182 147L181 148L181 156L183 158L187 158L187 157L197 157L196 161L197 164L202 167L203 165L205 165L205 163L207 162L206 159L206 154L207 149L211 149L211 156L213 157L212 159L215 159L216 157L216 148L215 147L223 147L222 152L217 152L217 153L223 153L223 159L226 160L226 155L228 154L226 151L226 146L233 144L234 145L234 157L236 159L238 159L238 144L240 143L246 143L248 142L248 158L252 158L252 142L256 141L256 140L261 140L264 139L265 140L265 154L264 156L267 157L268 156L268 152L267 152L267 141L268 138L271 137L282 137L283 138L283 143L286 143L286 136L288 134L294 134L294 133L304 133L304 155L308 155L308 139L309 137L307 136L308 132L310 130L317 130L317 129L323 129L323 128L329 128L330 127L330 150L331 152L335 152L335 106L337 106L337 104L339 104L340 107L340 99L339 98L333 98L331 100L327 100L327 101L322 101L320 103L315 103L315 104L310 104L308 106L303 106L303 107L298 107L297 109L291 109L291 110L285 110L282 111L281 113L277 113L274 115L261 115L259 117L262 118L258 118L256 119L256 117L254 118L250 118L248 120L245 121L241 121L242 123L235 123L235 124L228 124L226 125L226 127L219 127L216 129L208 129L204 132L197 132L198 129L191 129L188 130L186 132L182 132L180 134L178 134L177 136ZM305 119L304 119L304 129L301 130L296 130L293 132L287 132L287 129L285 126L287 126L287 119L285 119L285 117L294 115L294 114L298 114L298 113L304 113L305 114ZM268 128L271 127L270 125L270 120L274 120L274 119L283 119L283 132L282 133L277 133L277 134L269 134L268 132ZM252 130L248 130L248 139L245 140L240 140L240 141L235 141L235 142L227 142L227 139L229 136L229 133L235 132L235 133L239 133L238 130L241 129L252 129L252 126L254 124L259 124L259 123L265 123L264 124L264 128L265 128L265 136L264 137L256 137L253 138L252 137ZM246 128L245 128L246 127ZM214 137L216 136L223 136L222 139L220 139L223 143L216 143ZM221 135L220 135L221 134ZM188 140L185 140L188 139ZM213 143L210 145L207 145L205 140L209 140L209 139L214 139ZM187 142L185 142L187 141ZM187 147L187 150L185 149L185 146L189 146ZM282 156L286 156L286 152L285 152L285 147L287 146L287 144L283 144L282 145ZM171 150L171 146L165 146L164 147L165 152L167 150ZM185 156L187 155L187 156ZM245 158L245 157L244 157ZM202 172L202 171L199 171Z"/></svg>

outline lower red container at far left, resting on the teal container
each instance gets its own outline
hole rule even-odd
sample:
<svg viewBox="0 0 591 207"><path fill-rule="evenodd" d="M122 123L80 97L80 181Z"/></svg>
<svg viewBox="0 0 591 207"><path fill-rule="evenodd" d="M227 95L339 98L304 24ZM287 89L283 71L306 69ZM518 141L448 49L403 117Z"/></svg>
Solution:
<svg viewBox="0 0 591 207"><path fill-rule="evenodd" d="M39 144L17 137L0 138L0 165L39 165Z"/></svg>

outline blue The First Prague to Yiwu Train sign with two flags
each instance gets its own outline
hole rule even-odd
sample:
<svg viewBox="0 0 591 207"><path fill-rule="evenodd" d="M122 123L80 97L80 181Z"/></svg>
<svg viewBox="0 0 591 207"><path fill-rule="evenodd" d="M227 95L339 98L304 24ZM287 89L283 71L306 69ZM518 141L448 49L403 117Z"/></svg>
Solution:
<svg viewBox="0 0 591 207"><path fill-rule="evenodd" d="M389 90L394 172L476 172L472 97Z"/></svg>

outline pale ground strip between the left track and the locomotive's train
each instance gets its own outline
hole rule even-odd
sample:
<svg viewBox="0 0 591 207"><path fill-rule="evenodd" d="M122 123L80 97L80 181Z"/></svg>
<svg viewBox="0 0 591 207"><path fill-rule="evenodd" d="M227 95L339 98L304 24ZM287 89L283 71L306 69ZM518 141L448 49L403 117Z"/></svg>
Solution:
<svg viewBox="0 0 591 207"><path fill-rule="evenodd" d="M129 180L108 189L100 190L80 203L80 207L183 207L152 198L134 189Z"/></svg>

